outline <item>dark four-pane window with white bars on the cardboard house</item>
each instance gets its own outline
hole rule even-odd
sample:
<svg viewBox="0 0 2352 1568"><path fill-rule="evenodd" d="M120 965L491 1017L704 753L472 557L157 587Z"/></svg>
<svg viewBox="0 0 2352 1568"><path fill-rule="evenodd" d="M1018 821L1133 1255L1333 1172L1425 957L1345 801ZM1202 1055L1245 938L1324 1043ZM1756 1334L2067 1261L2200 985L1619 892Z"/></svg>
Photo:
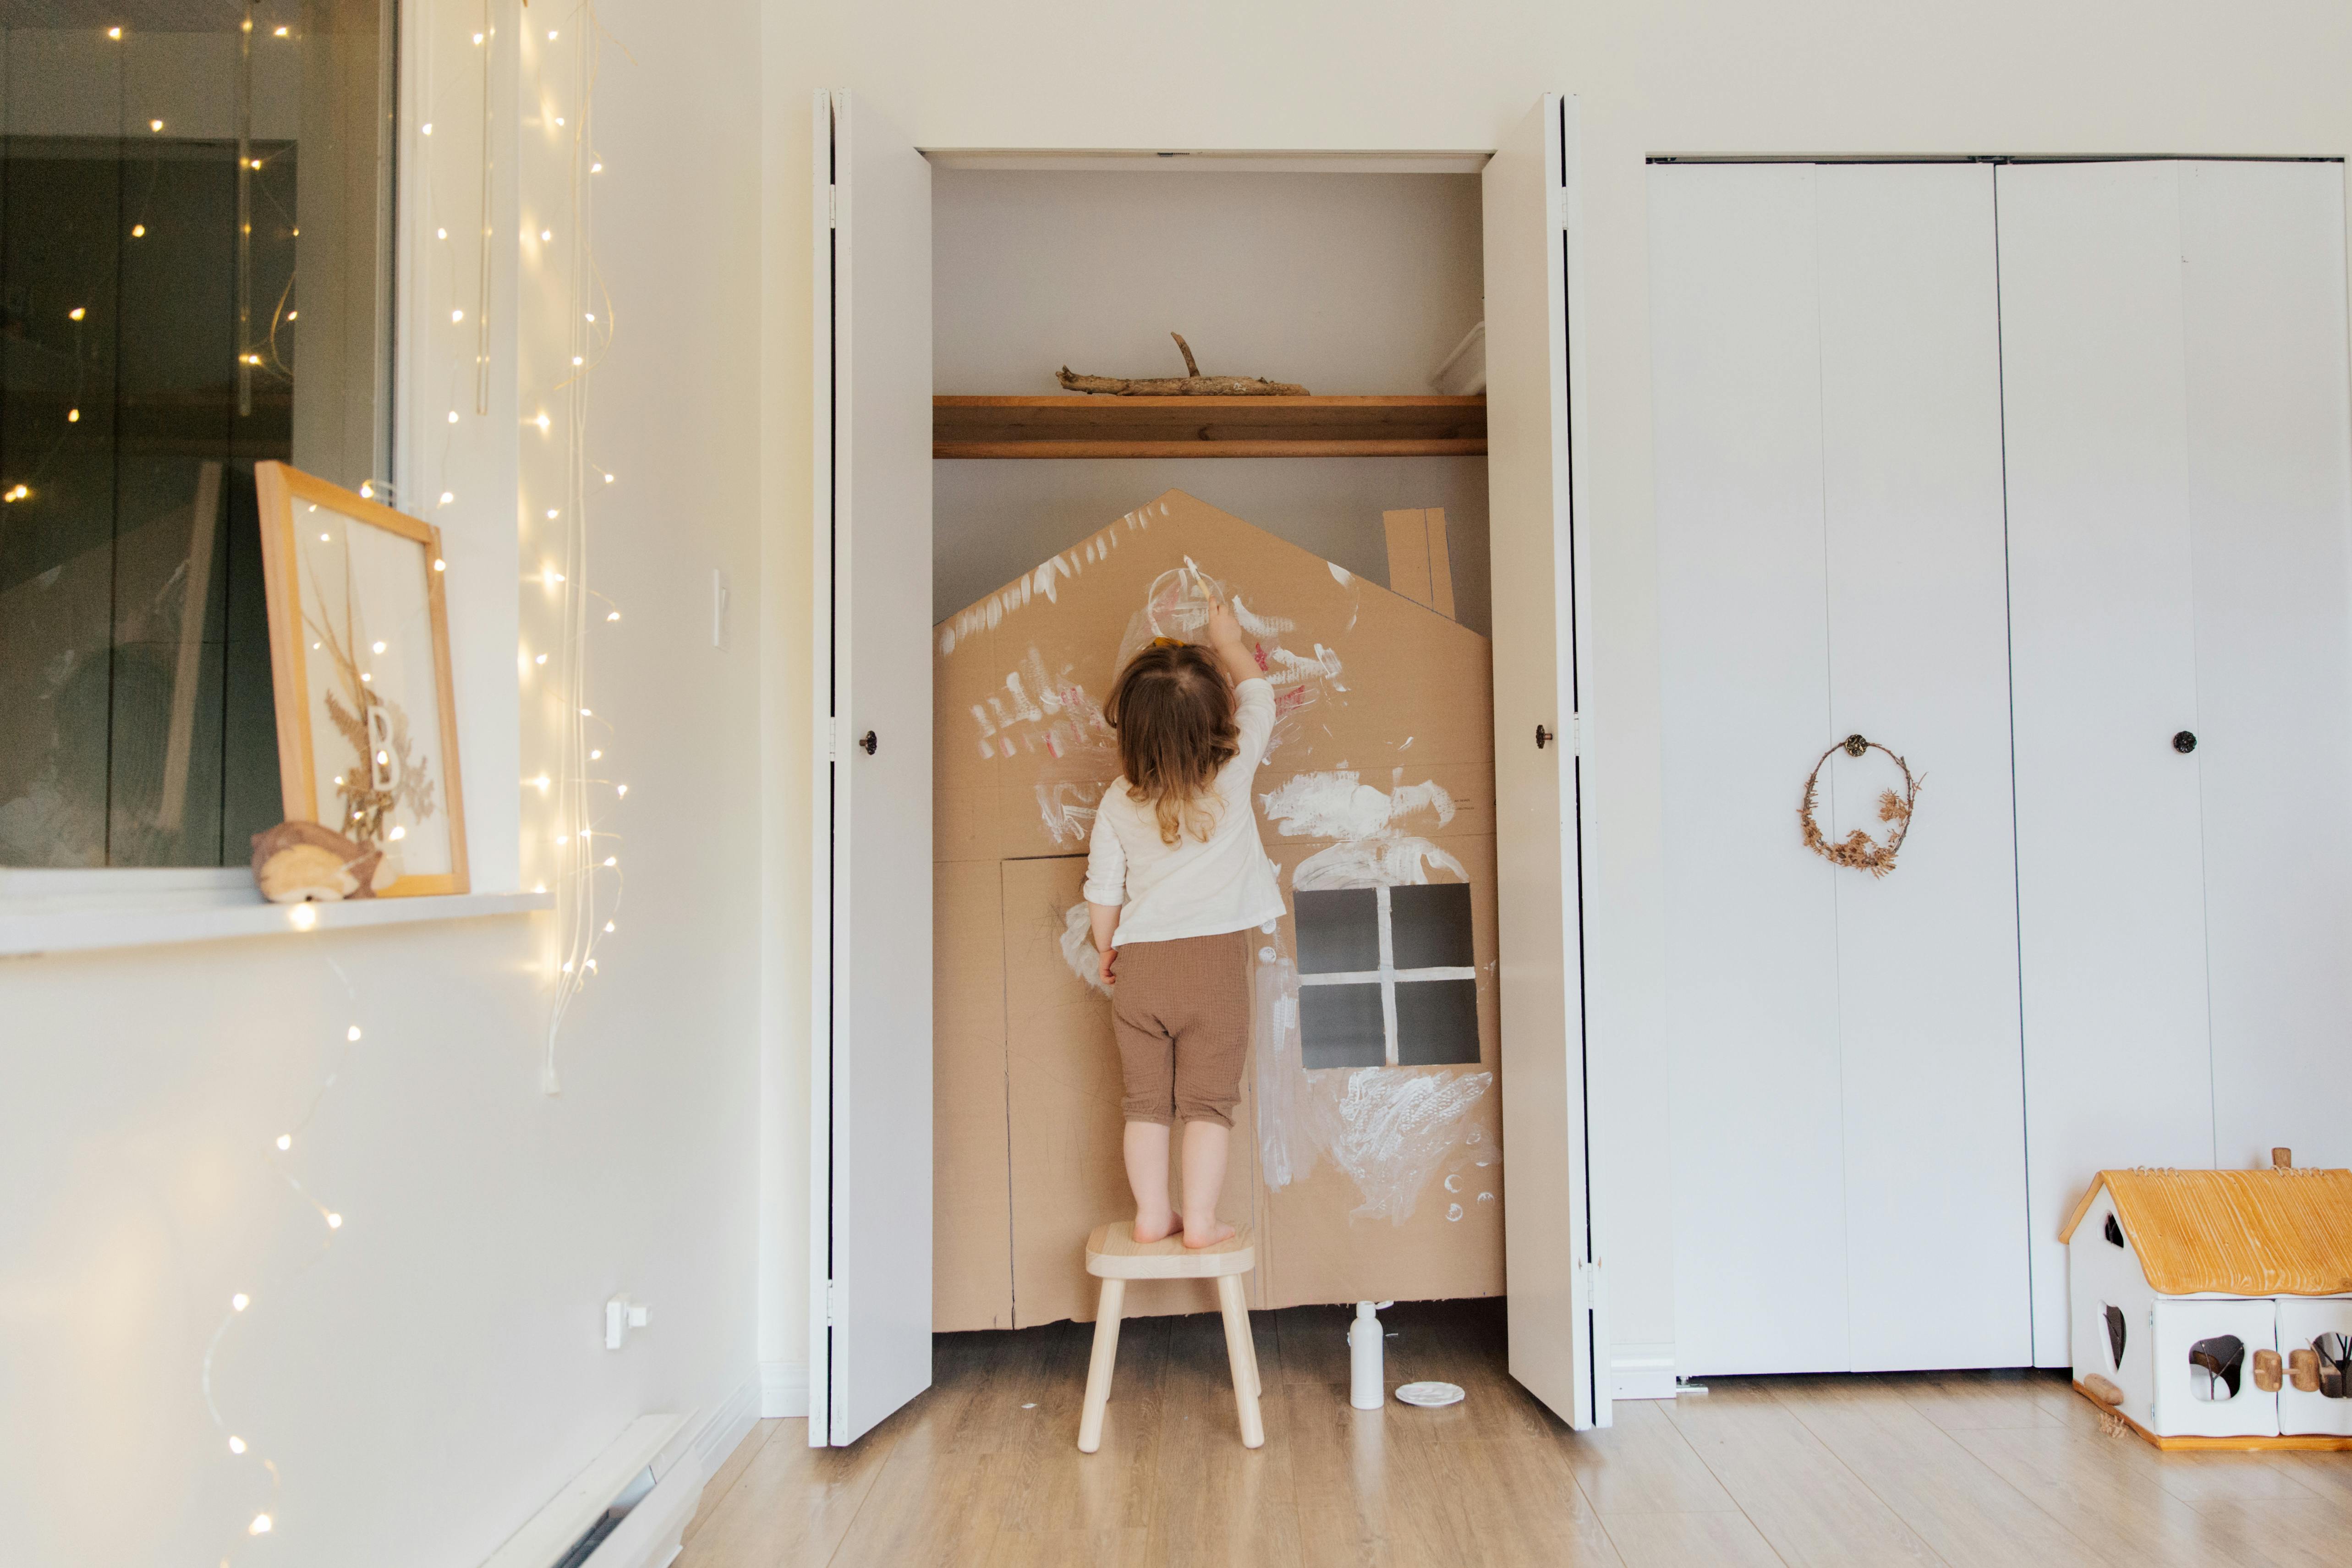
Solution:
<svg viewBox="0 0 2352 1568"><path fill-rule="evenodd" d="M1468 884L1296 898L1298 1037L1308 1067L1477 1060Z"/></svg>

